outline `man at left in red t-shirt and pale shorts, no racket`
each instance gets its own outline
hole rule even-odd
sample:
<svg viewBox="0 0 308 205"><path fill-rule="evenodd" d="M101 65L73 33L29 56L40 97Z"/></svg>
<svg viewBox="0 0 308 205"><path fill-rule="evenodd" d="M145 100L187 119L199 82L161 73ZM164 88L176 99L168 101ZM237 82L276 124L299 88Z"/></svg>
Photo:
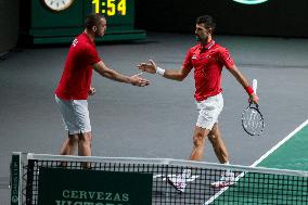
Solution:
<svg viewBox="0 0 308 205"><path fill-rule="evenodd" d="M73 41L64 71L55 90L55 101L62 113L68 138L64 141L61 154L73 155L78 148L78 155L91 155L91 125L88 111L88 97L94 94L91 87L92 71L103 77L132 86L144 87L146 79L139 75L125 76L107 67L100 59L94 39L103 37L106 20L99 14L91 14L85 21L86 29Z"/></svg>

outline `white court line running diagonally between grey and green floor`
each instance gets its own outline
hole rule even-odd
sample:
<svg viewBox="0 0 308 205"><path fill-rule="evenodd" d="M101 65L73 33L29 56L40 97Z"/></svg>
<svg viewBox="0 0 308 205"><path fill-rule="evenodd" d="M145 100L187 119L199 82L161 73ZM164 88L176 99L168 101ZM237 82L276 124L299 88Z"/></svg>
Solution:
<svg viewBox="0 0 308 205"><path fill-rule="evenodd" d="M297 133L299 130L301 130L305 126L308 125L308 119L304 121L300 126L298 126L295 130L293 130L291 133L288 133L283 140L281 140L279 143L277 143L272 149L270 149L266 154L264 154L261 157L259 157L255 163L251 165L251 167L256 167L258 164L260 164L266 157L268 157L271 153L273 153L277 149L279 149L282 144L284 144L287 140L290 140L295 133ZM240 180L240 178L244 177L245 172L242 172L235 178L235 182ZM217 197L219 197L224 191L227 191L229 187L226 187L221 189L219 192L217 192L215 195L213 195L210 198L208 198L203 205L208 205L211 202L214 202Z"/></svg>

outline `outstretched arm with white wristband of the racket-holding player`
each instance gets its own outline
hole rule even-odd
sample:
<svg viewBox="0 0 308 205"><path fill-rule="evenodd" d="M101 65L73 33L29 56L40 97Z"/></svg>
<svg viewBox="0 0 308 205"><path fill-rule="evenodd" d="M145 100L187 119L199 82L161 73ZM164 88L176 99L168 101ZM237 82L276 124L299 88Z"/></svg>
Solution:
<svg viewBox="0 0 308 205"><path fill-rule="evenodd" d="M141 63L138 65L139 69L142 72L146 72L150 74L159 74L165 78L182 81L190 73L191 69L185 69L182 66L180 69L163 69L154 63L154 61L150 60L150 64Z"/></svg>

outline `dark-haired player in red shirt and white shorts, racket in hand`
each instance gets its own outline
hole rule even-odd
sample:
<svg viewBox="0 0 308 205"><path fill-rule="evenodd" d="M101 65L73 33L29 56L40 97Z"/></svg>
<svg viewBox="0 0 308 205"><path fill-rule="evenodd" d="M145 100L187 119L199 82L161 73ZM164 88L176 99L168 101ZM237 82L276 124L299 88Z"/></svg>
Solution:
<svg viewBox="0 0 308 205"><path fill-rule="evenodd" d="M141 63L139 69L159 74L165 78L182 81L194 69L194 98L198 117L193 133L193 149L190 159L201 161L204 155L205 139L213 144L216 156L222 164L229 164L229 154L222 141L218 125L218 116L223 107L221 72L224 66L243 86L253 103L258 103L258 97L247 79L238 69L229 51L213 39L215 22L211 16L204 15L196 20L195 35L200 43L191 48L178 71L164 69L150 60L150 64ZM223 180L222 180L223 181ZM214 184L217 185L217 184ZM220 183L218 185L221 185ZM223 184L222 184L223 185ZM179 188L179 190L183 190Z"/></svg>

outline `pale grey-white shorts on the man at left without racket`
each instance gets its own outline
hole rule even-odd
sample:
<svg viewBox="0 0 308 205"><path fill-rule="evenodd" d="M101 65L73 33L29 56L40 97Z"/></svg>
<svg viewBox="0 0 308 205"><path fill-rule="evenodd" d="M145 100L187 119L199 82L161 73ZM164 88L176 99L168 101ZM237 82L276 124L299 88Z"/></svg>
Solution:
<svg viewBox="0 0 308 205"><path fill-rule="evenodd" d="M87 100L63 100L55 95L55 101L62 114L65 130L69 134L91 131Z"/></svg>

